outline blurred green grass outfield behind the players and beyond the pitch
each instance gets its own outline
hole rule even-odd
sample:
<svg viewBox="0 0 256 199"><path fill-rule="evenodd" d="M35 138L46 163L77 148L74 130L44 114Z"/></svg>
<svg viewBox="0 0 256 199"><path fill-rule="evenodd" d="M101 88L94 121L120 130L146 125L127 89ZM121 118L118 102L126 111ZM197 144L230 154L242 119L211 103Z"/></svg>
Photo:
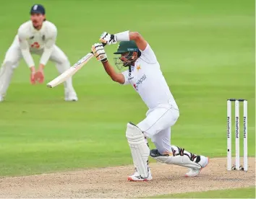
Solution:
<svg viewBox="0 0 256 199"><path fill-rule="evenodd" d="M1 2L1 61L34 3ZM248 150L255 156L255 1L39 3L58 27L57 45L71 63L90 52L103 31L137 31L148 40L179 105L171 128L176 146L226 156L226 99L248 99ZM110 60L116 48L106 47ZM79 101L64 102L62 85L46 88L58 75L53 63L45 74L45 84L30 85L22 61L0 103L0 176L132 164L126 124L139 123L147 111L134 89L112 82L91 60L73 77Z"/></svg>

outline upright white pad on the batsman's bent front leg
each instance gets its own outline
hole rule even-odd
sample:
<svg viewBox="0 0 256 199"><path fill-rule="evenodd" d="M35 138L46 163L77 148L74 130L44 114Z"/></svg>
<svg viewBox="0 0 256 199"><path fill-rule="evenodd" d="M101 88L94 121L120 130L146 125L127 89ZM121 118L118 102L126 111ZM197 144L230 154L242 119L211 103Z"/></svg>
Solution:
<svg viewBox="0 0 256 199"><path fill-rule="evenodd" d="M137 172L141 177L148 177L148 156L150 149L145 142L144 134L136 125L127 123L126 136Z"/></svg>

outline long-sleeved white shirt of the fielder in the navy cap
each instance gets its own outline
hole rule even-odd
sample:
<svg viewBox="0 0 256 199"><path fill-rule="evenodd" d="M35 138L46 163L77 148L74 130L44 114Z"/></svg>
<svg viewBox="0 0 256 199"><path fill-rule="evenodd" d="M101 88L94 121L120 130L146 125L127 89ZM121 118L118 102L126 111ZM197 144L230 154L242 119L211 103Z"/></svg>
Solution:
<svg viewBox="0 0 256 199"><path fill-rule="evenodd" d="M42 49L43 54L40 58L40 63L46 65L56 43L56 26L51 22L45 21L41 29L36 30L35 27L33 27L32 21L28 21L20 26L17 35L20 41L22 56L27 65L30 67L35 66L30 52Z"/></svg>

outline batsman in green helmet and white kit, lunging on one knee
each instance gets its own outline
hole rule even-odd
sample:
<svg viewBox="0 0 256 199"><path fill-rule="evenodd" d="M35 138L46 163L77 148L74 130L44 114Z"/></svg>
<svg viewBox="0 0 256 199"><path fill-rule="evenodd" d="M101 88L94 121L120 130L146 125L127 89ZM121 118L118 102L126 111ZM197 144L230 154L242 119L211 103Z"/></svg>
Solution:
<svg viewBox="0 0 256 199"><path fill-rule="evenodd" d="M161 72L160 65L150 45L137 32L120 32L111 35L103 32L101 42L108 45L119 43L115 58L116 66L129 69L116 73L108 63L103 45L96 43L92 50L98 61L103 63L106 73L120 84L131 84L148 106L147 117L139 124L127 124L126 136L135 165L135 174L130 181L152 180L148 167L148 156L158 162L176 164L189 168L186 177L195 177L208 164L208 158L171 146L171 126L179 118L179 109ZM156 149L150 151L146 138L151 138Z"/></svg>

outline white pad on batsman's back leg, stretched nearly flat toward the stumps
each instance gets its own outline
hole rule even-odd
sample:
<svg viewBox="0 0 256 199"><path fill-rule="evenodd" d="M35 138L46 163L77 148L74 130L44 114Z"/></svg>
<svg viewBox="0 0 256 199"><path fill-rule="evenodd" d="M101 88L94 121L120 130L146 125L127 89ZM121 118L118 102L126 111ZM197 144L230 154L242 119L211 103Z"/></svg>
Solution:
<svg viewBox="0 0 256 199"><path fill-rule="evenodd" d="M158 162L166 164L176 164L182 167L189 167L192 169L201 169L201 165L197 162L193 162L187 155L176 155L173 154L159 154L157 149L150 151L150 156L156 159Z"/></svg>

